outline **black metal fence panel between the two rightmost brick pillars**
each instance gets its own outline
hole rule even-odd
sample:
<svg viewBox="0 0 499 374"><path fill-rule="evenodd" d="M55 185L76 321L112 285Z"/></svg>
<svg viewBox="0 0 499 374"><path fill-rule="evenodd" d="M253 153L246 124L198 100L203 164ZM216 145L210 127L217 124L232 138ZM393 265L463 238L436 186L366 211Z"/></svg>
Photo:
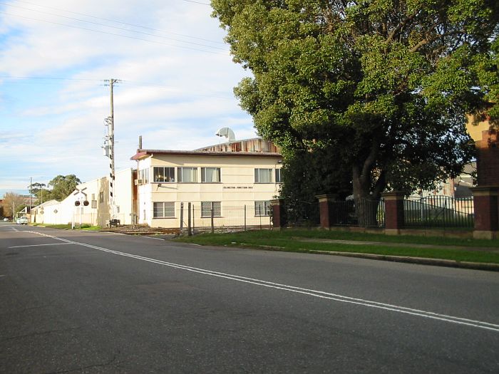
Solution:
<svg viewBox="0 0 499 374"><path fill-rule="evenodd" d="M474 225L473 197L434 195L405 199L404 227L468 227Z"/></svg>

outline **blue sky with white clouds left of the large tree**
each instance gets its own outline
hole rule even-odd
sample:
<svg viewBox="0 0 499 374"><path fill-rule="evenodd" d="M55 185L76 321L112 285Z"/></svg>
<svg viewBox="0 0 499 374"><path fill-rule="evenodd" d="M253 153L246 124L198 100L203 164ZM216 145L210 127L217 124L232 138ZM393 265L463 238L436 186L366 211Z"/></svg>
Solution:
<svg viewBox="0 0 499 374"><path fill-rule="evenodd" d="M115 167L143 148L194 150L256 137L233 88L209 0L0 0L0 196L33 182L108 174L104 120L114 86Z"/></svg>

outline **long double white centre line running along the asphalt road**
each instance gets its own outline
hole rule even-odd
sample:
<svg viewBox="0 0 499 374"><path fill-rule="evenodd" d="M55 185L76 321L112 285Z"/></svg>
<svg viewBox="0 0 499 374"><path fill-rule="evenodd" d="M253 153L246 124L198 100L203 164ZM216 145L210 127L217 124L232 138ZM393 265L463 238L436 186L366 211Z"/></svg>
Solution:
<svg viewBox="0 0 499 374"><path fill-rule="evenodd" d="M460 325L471 326L471 327L475 327L475 328L483 328L486 330L495 331L495 332L499 333L499 325L495 324L495 323L488 323L485 321L476 321L473 319L461 318L461 317L456 317L456 316L448 316L446 314L434 313L431 311L423 311L420 309L406 308L404 306L396 306L396 305L392 305L392 304L388 304L388 303L379 303L376 301L365 300L362 298L353 298L353 297L343 296L343 295L339 295L339 294L331 294L331 293L325 292L325 291L317 291L317 290L313 290L313 289L304 289L301 287L289 286L287 284L279 284L279 283L274 283L274 282L270 282L270 281L263 281L261 279L252 279L252 278L248 278L245 276L238 276L235 274L227 274L227 273L221 273L219 271L200 269L200 268L195 268L193 266L186 266L186 265L182 265L182 264L175 264L175 263L168 262L168 261L151 259L149 257L138 256L136 254L128 254L125 252L114 251L112 249L106 249L106 248L103 248L101 246L93 246L91 244L81 243L78 241L71 241L71 240L63 239L63 238L59 238L59 237L53 237L51 235L42 234L42 233L38 233L38 232L34 232L34 233L40 234L44 237L51 237L51 238L56 239L56 240L64 241L67 244L78 244L81 246L86 246L86 247L91 248L91 249L97 249L98 251L104 251L104 252L108 252L110 254L116 254L118 256L130 257L132 259L138 259L140 261L147 261L147 262L151 262L153 264L168 266L168 267L171 267L174 269L191 271L193 273L205 274L208 276L216 276L217 278L230 279L232 281L239 281L239 282L246 283L246 284L254 284L256 286L262 286L262 287L267 287L267 288L271 288L271 289L279 289L282 291L294 292L296 294L314 296L317 298L324 298L327 300L338 301L341 303L351 303L351 304L366 306L369 308L379 308L379 309L383 309L386 311L394 311L397 313L409 314L411 316L419 316L419 317L423 317L423 318L435 319L438 321L457 323Z"/></svg>

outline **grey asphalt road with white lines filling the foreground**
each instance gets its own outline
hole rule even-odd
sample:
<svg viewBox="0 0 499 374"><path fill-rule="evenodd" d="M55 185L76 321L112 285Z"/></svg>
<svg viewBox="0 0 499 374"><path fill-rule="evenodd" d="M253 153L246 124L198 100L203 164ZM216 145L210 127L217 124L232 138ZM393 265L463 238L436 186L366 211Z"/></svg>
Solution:
<svg viewBox="0 0 499 374"><path fill-rule="evenodd" d="M499 274L0 224L0 373L499 373Z"/></svg>

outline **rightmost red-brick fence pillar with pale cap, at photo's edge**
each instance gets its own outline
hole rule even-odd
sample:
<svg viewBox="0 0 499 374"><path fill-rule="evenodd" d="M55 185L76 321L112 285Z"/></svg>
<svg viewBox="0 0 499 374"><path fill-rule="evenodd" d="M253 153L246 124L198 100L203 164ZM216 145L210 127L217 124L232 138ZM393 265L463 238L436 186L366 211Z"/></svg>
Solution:
<svg viewBox="0 0 499 374"><path fill-rule="evenodd" d="M471 187L475 209L475 239L497 239L499 237L498 186Z"/></svg>

